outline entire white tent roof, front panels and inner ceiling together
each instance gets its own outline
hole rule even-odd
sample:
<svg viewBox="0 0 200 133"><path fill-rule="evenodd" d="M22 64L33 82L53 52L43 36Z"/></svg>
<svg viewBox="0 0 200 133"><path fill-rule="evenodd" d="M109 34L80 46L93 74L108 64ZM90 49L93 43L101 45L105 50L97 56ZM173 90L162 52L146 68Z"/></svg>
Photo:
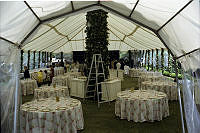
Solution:
<svg viewBox="0 0 200 133"><path fill-rule="evenodd" d="M24 50L70 52L85 50L85 13L109 12L109 49L168 48L182 57L185 69L196 69L200 53L198 0L30 1L1 2L1 39ZM184 56L184 57L183 57Z"/></svg>

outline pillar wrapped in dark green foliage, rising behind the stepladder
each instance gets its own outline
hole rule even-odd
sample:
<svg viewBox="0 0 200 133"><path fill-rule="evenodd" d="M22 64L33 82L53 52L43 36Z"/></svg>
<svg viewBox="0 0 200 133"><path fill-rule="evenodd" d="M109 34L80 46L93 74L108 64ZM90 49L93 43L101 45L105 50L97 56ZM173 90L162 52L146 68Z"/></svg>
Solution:
<svg viewBox="0 0 200 133"><path fill-rule="evenodd" d="M87 27L85 30L87 34L86 63L90 67L93 54L101 54L106 78L109 75L107 14L101 9L87 12Z"/></svg>

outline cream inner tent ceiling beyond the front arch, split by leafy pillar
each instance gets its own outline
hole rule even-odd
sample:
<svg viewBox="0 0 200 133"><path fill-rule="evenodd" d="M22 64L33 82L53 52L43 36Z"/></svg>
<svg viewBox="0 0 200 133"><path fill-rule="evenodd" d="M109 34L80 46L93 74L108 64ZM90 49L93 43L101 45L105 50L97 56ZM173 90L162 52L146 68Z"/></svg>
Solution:
<svg viewBox="0 0 200 133"><path fill-rule="evenodd" d="M55 53L85 50L85 27L85 13L42 24L22 49ZM109 50L164 48L150 30L111 13L108 14L108 28ZM120 44L122 46L119 47Z"/></svg>

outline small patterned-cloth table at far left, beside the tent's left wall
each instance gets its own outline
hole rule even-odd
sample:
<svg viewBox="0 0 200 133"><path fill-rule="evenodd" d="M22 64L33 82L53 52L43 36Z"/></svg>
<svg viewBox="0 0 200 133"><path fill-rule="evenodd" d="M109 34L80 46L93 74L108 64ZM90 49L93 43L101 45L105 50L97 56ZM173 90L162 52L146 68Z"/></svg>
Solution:
<svg viewBox="0 0 200 133"><path fill-rule="evenodd" d="M33 94L34 89L38 88L36 80L25 79L20 80L22 95Z"/></svg>

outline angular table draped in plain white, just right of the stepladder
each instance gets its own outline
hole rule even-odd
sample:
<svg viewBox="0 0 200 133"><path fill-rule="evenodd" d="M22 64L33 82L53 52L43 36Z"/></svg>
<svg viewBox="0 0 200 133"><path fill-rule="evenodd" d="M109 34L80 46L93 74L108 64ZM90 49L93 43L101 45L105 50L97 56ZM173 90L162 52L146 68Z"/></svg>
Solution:
<svg viewBox="0 0 200 133"><path fill-rule="evenodd" d="M101 83L102 100L112 101L117 98L117 93L121 92L121 80L114 79ZM108 93L107 93L108 92Z"/></svg>

